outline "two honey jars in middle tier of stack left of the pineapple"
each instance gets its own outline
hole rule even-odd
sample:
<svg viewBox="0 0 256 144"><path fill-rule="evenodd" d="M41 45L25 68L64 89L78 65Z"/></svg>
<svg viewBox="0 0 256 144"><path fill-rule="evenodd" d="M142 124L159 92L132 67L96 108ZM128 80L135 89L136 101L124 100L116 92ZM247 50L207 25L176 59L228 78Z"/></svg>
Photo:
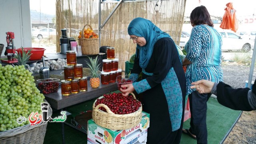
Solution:
<svg viewBox="0 0 256 144"><path fill-rule="evenodd" d="M73 80L74 78L83 77L83 65L76 64L74 66L64 66L64 80Z"/></svg>

